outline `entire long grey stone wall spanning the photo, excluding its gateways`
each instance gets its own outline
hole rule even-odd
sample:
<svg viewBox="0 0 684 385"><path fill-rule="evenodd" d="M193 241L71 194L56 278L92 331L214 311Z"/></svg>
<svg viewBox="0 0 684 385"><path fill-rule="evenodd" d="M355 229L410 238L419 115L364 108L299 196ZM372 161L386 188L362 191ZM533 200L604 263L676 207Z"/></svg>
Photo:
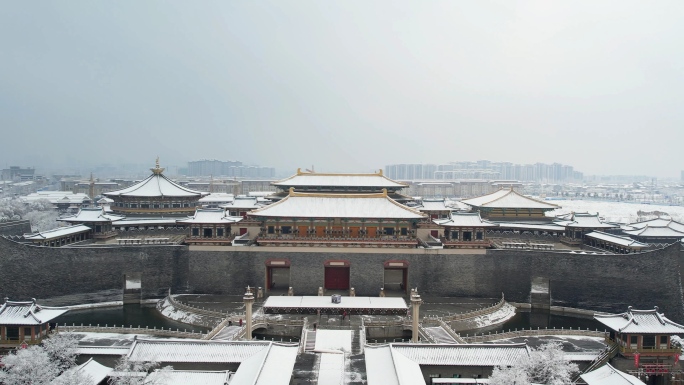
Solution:
<svg viewBox="0 0 684 385"><path fill-rule="evenodd" d="M377 296L384 262L408 261L408 284L436 296L496 298L528 302L534 277L550 280L553 305L623 312L659 306L684 322L680 246L628 255L487 250L451 254L447 250L310 249L187 246L62 247L18 244L0 238L0 296L13 300L122 289L122 277L142 273L145 298L174 292L240 294L247 285L264 286L266 260L290 261L295 295L316 295L324 263L350 262L357 295Z"/></svg>

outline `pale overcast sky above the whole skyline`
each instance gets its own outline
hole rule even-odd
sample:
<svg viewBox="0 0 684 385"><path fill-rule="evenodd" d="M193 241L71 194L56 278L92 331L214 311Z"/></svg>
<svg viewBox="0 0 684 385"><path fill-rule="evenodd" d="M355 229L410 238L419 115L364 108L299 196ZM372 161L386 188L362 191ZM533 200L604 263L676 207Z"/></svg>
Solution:
<svg viewBox="0 0 684 385"><path fill-rule="evenodd" d="M0 165L684 169L684 1L6 1Z"/></svg>

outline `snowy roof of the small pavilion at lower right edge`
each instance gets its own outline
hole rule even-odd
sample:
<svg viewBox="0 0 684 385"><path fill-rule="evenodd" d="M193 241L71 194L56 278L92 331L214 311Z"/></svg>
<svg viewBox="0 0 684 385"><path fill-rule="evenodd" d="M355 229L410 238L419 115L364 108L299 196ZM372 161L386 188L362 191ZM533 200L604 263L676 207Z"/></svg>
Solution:
<svg viewBox="0 0 684 385"><path fill-rule="evenodd" d="M676 324L652 310L634 310L630 306L622 314L596 314L594 319L618 333L629 334L682 334L684 326Z"/></svg>

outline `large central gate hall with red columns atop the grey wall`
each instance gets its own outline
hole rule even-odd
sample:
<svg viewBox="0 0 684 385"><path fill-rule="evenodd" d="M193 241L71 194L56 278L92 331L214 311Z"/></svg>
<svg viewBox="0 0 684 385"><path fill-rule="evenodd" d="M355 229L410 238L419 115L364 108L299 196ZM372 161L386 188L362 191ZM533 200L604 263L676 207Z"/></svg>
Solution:
<svg viewBox="0 0 684 385"><path fill-rule="evenodd" d="M260 245L416 247L418 222L427 218L388 196L295 192L251 211L260 221Z"/></svg>

